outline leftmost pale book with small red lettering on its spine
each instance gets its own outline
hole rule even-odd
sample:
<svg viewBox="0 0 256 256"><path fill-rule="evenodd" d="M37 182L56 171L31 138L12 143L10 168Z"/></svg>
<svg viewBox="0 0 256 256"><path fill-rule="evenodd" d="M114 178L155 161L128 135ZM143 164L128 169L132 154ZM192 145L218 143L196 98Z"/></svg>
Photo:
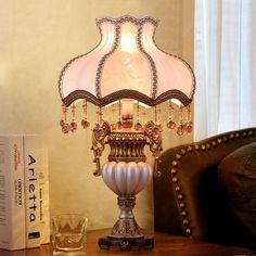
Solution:
<svg viewBox="0 0 256 256"><path fill-rule="evenodd" d="M0 136L0 247L25 244L23 136Z"/></svg>

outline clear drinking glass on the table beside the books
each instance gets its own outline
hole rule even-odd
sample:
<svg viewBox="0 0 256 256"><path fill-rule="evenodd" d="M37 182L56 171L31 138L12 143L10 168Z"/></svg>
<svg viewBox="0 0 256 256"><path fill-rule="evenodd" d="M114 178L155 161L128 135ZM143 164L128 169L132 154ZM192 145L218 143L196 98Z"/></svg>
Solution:
<svg viewBox="0 0 256 256"><path fill-rule="evenodd" d="M52 218L53 255L86 255L88 219L84 215L62 214Z"/></svg>

